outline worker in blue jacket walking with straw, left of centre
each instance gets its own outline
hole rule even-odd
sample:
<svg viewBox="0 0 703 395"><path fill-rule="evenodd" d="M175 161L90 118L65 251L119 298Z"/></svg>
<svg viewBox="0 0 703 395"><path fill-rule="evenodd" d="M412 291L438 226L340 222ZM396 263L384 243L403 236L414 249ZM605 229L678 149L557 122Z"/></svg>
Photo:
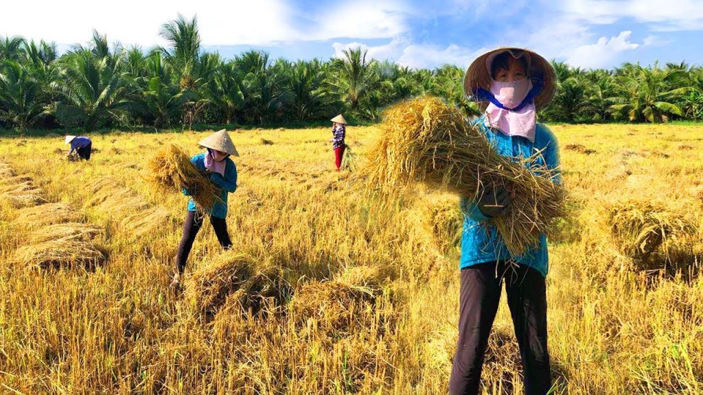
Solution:
<svg viewBox="0 0 703 395"><path fill-rule="evenodd" d="M225 129L203 138L198 144L205 147L207 152L195 155L191 158L191 162L198 170L207 174L210 181L221 189L221 193L212 210L208 213L198 211L192 198L188 202L188 214L186 215L186 224L183 225L183 237L176 254L176 274L171 282L172 287L178 287L181 283L188 254L191 254L195 235L198 235L205 215L209 216L210 224L212 224L222 248L229 250L232 247L225 218L227 216L227 194L233 193L237 189L237 167L230 156L238 157L239 153ZM191 191L183 189L183 194L191 195Z"/></svg>

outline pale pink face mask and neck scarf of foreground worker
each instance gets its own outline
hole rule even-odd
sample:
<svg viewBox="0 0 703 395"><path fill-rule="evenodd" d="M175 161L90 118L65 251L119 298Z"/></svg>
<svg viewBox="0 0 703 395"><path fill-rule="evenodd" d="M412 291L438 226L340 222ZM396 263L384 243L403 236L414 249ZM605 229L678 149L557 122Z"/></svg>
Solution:
<svg viewBox="0 0 703 395"><path fill-rule="evenodd" d="M529 78L515 82L499 82L491 79L491 93L504 107L515 108L532 89ZM522 136L534 143L536 129L536 109L534 101L518 111L505 110L489 103L486 108L486 123L508 136Z"/></svg>

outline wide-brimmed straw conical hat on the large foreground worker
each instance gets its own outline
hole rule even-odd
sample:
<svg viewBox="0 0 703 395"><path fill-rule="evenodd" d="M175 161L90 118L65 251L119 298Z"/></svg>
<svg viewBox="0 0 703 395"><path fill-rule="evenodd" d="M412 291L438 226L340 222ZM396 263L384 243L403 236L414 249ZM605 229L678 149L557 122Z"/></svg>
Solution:
<svg viewBox="0 0 703 395"><path fill-rule="evenodd" d="M532 79L532 83L541 80L543 86L541 91L534 98L534 105L537 110L545 108L554 97L556 90L556 73L552 65L537 53L522 48L497 48L493 51L488 51L482 56L476 58L466 70L464 75L464 94L467 98L475 100L476 93L479 88L489 90L491 86L491 63L494 58L501 53L508 51L514 58L519 58L520 54L527 58L527 74ZM485 110L488 103L480 102L479 106Z"/></svg>

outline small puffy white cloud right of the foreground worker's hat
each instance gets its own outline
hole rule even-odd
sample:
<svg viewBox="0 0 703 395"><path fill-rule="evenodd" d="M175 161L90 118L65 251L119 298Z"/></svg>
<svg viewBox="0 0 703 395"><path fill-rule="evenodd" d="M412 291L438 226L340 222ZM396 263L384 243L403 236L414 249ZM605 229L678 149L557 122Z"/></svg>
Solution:
<svg viewBox="0 0 703 395"><path fill-rule="evenodd" d="M569 65L584 68L607 67L617 60L619 53L638 48L629 40L632 32L620 32L616 37L600 37L595 44L579 46L567 59Z"/></svg>

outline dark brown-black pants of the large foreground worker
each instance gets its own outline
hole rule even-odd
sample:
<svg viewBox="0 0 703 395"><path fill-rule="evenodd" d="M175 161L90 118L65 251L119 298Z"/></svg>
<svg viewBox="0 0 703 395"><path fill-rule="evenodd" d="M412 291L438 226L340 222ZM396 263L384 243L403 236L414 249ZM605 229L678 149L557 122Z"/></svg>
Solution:
<svg viewBox="0 0 703 395"><path fill-rule="evenodd" d="M449 380L449 394L479 394L481 370L505 282L508 306L520 346L527 395L544 395L551 387L547 351L547 297L538 271L505 262L463 268L459 302L459 341Z"/></svg>

